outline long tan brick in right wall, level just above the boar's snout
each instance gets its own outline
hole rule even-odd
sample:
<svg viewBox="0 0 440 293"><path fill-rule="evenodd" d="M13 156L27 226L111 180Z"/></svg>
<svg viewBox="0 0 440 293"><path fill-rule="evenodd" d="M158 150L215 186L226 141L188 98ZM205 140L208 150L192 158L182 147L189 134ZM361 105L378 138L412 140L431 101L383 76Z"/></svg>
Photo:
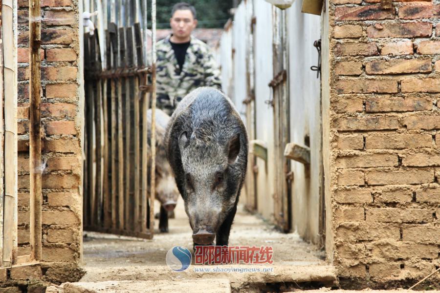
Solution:
<svg viewBox="0 0 440 293"><path fill-rule="evenodd" d="M366 221L382 223L428 223L432 222L432 211L430 209L373 208L367 209Z"/></svg>

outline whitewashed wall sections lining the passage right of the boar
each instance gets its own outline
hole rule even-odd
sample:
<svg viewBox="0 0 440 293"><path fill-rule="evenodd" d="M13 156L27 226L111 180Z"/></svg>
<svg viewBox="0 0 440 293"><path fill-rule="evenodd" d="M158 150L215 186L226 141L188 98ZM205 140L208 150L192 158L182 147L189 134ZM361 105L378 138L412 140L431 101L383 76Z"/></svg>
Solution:
<svg viewBox="0 0 440 293"><path fill-rule="evenodd" d="M247 9L247 3L253 9ZM304 145L310 137L311 167L306 174L303 164L292 162L292 227L306 240L319 241L319 199L322 186L320 80L310 66L317 65L318 53L313 42L320 38L319 16L301 13L302 1L297 0L287 10L287 35L289 46L288 80L290 86L290 136L291 142ZM222 36L219 52L222 67L223 90L230 95L240 112L245 111L246 99L246 28L251 17L254 27L254 89L256 107L256 139L266 143L267 163L257 158L257 211L273 221L273 108L266 101L272 99L268 86L273 79L272 64L272 9L264 0L242 1L237 8L232 27ZM247 14L246 14L247 13ZM251 14L251 15L249 15ZM235 54L231 54L231 50ZM234 56L232 56L234 55Z"/></svg>

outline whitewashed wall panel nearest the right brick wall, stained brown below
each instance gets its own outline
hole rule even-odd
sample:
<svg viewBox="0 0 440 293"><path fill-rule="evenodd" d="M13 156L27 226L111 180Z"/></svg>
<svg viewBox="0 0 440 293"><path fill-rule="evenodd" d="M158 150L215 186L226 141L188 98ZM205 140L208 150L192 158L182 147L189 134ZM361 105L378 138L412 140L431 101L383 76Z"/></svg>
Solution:
<svg viewBox="0 0 440 293"><path fill-rule="evenodd" d="M310 137L310 175L304 164L292 161L292 227L314 243L319 241L319 202L322 188L320 79L310 66L318 65L313 42L321 38L321 17L301 13L302 1L287 10L290 86L290 142L304 145Z"/></svg>

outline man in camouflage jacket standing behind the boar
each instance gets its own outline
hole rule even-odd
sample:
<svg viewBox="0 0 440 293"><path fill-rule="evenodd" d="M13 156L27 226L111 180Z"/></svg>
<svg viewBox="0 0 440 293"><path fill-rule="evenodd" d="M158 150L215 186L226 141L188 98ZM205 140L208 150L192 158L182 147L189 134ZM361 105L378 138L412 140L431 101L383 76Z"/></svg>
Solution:
<svg viewBox="0 0 440 293"><path fill-rule="evenodd" d="M197 26L194 6L174 5L170 25L172 34L156 45L156 105L168 115L197 87L221 89L220 70L208 45L191 36Z"/></svg>

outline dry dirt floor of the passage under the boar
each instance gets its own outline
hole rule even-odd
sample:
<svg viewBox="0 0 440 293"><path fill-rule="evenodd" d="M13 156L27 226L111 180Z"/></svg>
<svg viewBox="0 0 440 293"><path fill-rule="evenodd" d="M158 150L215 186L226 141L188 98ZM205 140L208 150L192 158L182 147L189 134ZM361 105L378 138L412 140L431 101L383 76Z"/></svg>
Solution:
<svg viewBox="0 0 440 293"><path fill-rule="evenodd" d="M158 206L155 210L158 210ZM175 214L175 218L169 220L169 233L159 233L158 220L155 220L156 231L152 240L85 231L84 269L87 273L80 281L83 282L81 286L91 286L90 290L96 286L100 288L88 292L140 292L135 288L142 291L145 286L149 288L145 292L260 292L257 288L263 285L267 288L267 284L278 284L279 287L279 284L294 283L300 288L301 283L330 286L336 280L334 268L325 262L323 251L302 241L296 233L279 232L257 215L245 212L242 207L236 214L229 245L272 246L273 264L220 267L264 267L273 268L273 272L195 272L195 268L213 267L195 265L184 272L174 272L166 265L167 251L177 245L192 251L193 245L181 199ZM230 287L226 286L223 290L225 282ZM177 286L177 289L164 287L164 284ZM127 289L129 287L132 287L132 291ZM157 291L154 289L156 287ZM185 288L189 288L188 291ZM279 289L274 290L277 292Z"/></svg>

